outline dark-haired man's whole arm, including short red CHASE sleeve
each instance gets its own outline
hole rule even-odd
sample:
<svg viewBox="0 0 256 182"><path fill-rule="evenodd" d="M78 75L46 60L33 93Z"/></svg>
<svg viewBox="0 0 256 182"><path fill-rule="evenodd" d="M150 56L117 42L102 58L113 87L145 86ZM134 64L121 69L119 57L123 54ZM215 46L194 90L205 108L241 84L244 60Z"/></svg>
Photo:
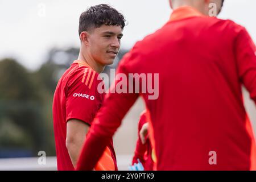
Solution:
<svg viewBox="0 0 256 182"><path fill-rule="evenodd" d="M103 95L97 92L97 86L101 81L97 80L97 75L93 78L90 77L89 73L91 72L96 75L91 68L77 68L69 80L66 91L66 146L73 166L76 166L86 133L103 100ZM89 78L88 80L92 84L90 88L85 84L85 78ZM85 96L90 96L93 99Z"/></svg>

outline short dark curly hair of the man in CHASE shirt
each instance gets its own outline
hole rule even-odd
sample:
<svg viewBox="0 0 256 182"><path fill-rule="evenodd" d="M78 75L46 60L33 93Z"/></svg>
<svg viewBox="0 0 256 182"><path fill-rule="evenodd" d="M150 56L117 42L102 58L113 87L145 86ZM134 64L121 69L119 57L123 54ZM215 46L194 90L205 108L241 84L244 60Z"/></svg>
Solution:
<svg viewBox="0 0 256 182"><path fill-rule="evenodd" d="M79 35L83 31L101 27L103 24L108 26L121 26L123 30L123 27L125 27L125 18L121 13L109 5L101 4L91 6L80 16Z"/></svg>

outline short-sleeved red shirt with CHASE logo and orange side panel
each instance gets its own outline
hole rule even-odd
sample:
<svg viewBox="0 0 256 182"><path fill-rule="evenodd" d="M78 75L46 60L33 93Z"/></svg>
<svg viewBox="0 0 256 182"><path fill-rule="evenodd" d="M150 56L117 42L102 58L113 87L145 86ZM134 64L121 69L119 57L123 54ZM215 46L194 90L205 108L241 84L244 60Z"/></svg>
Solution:
<svg viewBox="0 0 256 182"><path fill-rule="evenodd" d="M52 111L58 170L74 169L65 145L69 119L79 119L90 126L102 105L104 93L97 92L97 86L101 82L97 77L98 73L84 62L76 60L57 84ZM117 170L112 140L95 170Z"/></svg>

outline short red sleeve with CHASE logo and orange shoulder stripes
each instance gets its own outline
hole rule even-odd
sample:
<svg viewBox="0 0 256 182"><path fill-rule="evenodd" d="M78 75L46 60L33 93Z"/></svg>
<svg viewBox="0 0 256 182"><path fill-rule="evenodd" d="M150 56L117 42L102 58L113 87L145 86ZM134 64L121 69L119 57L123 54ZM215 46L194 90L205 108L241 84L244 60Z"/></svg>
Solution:
<svg viewBox="0 0 256 182"><path fill-rule="evenodd" d="M66 122L69 119L79 119L91 125L98 109L100 109L104 96L97 92L97 75L92 69L89 72L89 69L80 69L69 81L66 100ZM92 77L92 75L94 76ZM86 85L87 77L88 82Z"/></svg>

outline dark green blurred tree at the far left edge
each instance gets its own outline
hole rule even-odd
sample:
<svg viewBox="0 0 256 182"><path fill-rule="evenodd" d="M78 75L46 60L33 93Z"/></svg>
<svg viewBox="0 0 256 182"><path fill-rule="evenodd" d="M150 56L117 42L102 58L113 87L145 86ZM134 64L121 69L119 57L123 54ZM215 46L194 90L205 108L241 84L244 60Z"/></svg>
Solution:
<svg viewBox="0 0 256 182"><path fill-rule="evenodd" d="M0 78L0 125L5 129L0 146L18 146L36 155L46 144L42 98L30 73L14 59L0 61Z"/></svg>

